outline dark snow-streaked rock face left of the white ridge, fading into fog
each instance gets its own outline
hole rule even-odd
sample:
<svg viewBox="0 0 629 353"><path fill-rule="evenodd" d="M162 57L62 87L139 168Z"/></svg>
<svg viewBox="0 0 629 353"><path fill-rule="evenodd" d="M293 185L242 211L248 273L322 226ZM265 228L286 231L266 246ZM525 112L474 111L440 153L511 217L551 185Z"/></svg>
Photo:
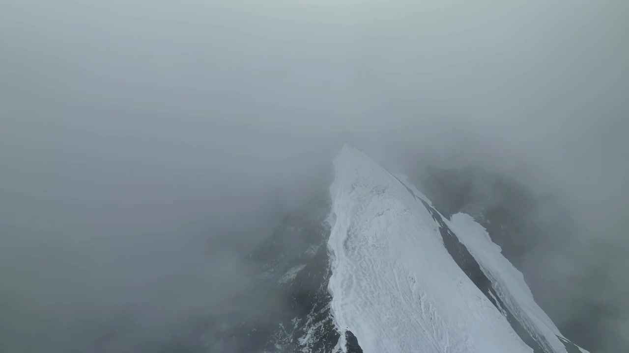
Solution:
<svg viewBox="0 0 629 353"><path fill-rule="evenodd" d="M235 310L214 318L210 352L333 352L340 334L330 315L327 195L288 215L248 255L259 271Z"/></svg>

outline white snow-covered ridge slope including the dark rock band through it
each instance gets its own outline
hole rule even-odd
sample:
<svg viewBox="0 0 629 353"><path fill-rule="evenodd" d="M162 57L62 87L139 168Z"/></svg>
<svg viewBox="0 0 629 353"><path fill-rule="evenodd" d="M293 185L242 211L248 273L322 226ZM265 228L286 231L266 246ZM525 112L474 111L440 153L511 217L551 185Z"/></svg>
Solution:
<svg viewBox="0 0 629 353"><path fill-rule="evenodd" d="M347 337L365 353L577 349L473 220L444 219L357 149L343 148L334 165L328 290L338 349Z"/></svg>

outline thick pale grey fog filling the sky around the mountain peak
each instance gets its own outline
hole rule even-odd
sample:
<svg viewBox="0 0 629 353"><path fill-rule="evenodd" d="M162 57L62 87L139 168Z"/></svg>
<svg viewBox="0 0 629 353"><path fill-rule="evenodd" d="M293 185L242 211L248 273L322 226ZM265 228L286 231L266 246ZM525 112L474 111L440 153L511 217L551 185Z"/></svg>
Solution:
<svg viewBox="0 0 629 353"><path fill-rule="evenodd" d="M559 195L579 229L562 266L598 278L569 291L606 301L592 325L629 337L628 10L3 1L0 350L167 341L242 288L241 254L344 142L397 170L482 164Z"/></svg>

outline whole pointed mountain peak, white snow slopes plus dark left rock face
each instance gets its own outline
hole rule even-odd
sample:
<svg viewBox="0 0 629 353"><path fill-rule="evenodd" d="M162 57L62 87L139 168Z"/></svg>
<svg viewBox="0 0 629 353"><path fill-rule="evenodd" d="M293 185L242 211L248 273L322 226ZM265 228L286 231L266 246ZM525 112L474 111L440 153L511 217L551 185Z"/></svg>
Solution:
<svg viewBox="0 0 629 353"><path fill-rule="evenodd" d="M583 353L467 214L447 219L403 175L356 148L248 256L239 305L212 352Z"/></svg>

